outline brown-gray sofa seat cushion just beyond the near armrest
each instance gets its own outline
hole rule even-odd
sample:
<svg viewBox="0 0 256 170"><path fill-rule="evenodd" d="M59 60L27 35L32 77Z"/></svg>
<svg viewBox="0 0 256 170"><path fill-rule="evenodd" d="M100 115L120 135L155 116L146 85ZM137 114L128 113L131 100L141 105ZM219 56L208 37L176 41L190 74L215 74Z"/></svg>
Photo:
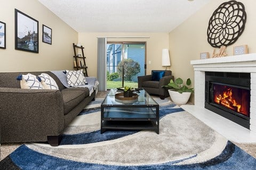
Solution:
<svg viewBox="0 0 256 170"><path fill-rule="evenodd" d="M74 89L70 90L70 89L68 88L68 89L61 90L63 103L64 103L64 115L68 114L86 97L85 91L74 90Z"/></svg>

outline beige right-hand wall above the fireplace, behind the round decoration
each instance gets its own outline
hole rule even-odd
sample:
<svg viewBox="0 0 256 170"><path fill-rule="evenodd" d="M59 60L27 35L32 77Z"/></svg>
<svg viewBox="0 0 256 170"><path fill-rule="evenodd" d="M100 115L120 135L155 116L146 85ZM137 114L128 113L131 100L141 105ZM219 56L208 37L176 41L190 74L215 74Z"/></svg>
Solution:
<svg viewBox="0 0 256 170"><path fill-rule="evenodd" d="M214 48L207 43L208 22L214 10L223 2L227 1L212 0L169 33L171 70L175 78L191 78L194 83L194 70L190 61L199 60L199 55L202 52L209 52L212 56ZM239 0L239 2L242 2L245 6L247 21L241 37L238 38L235 44L227 47L228 56L233 55L234 46L245 44L249 47L249 53L256 53L256 1ZM219 52L219 48L216 50ZM193 101L193 98L191 100Z"/></svg>

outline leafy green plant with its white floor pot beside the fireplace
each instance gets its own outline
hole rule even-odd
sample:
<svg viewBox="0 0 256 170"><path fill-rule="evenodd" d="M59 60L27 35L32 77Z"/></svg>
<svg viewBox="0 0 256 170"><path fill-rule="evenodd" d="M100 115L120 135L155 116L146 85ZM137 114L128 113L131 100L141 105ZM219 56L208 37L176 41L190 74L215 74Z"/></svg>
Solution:
<svg viewBox="0 0 256 170"><path fill-rule="evenodd" d="M188 99L191 93L194 92L194 88L189 88L191 85L191 80L188 78L186 81L186 85L183 84L183 80L181 78L176 79L175 81L171 80L166 87L170 94L172 101L179 105L184 105L188 102Z"/></svg>

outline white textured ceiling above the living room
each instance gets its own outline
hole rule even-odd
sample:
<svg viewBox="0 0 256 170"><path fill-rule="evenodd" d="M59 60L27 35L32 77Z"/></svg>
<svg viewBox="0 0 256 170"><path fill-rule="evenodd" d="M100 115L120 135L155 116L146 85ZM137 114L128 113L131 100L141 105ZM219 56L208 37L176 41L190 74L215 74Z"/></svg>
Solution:
<svg viewBox="0 0 256 170"><path fill-rule="evenodd" d="M77 32L170 32L211 0L38 0Z"/></svg>

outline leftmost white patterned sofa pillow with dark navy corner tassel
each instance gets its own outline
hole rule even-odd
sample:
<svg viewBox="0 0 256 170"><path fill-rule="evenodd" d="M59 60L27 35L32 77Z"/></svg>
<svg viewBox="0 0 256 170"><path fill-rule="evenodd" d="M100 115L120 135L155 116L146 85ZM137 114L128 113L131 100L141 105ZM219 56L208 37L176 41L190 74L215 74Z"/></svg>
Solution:
<svg viewBox="0 0 256 170"><path fill-rule="evenodd" d="M44 89L43 85L37 80L36 76L30 73L26 75L19 75L17 80L20 80L21 89Z"/></svg>

